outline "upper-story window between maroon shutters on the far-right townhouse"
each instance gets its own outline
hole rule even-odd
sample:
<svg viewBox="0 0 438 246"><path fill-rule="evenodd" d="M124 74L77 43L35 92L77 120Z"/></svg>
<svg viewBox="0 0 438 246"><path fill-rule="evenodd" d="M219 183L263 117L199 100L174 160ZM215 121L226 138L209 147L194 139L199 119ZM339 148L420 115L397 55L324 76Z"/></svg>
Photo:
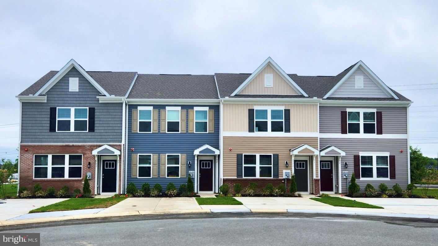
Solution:
<svg viewBox="0 0 438 246"><path fill-rule="evenodd" d="M348 133L376 133L376 110L371 108L347 108Z"/></svg>

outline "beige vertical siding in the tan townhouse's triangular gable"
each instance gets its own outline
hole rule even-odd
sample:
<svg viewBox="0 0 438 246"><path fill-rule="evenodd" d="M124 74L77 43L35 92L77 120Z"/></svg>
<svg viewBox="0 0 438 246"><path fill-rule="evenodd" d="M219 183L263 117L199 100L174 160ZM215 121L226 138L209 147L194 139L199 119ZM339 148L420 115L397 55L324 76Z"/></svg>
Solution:
<svg viewBox="0 0 438 246"><path fill-rule="evenodd" d="M273 74L273 87L265 87L265 73ZM261 70L239 94L298 95L270 65Z"/></svg>

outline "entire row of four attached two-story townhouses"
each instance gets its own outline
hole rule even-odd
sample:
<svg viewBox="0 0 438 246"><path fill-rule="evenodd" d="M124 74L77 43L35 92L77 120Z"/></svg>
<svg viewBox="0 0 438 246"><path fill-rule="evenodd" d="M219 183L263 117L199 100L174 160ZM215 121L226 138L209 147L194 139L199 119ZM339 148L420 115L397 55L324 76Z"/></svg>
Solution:
<svg viewBox="0 0 438 246"><path fill-rule="evenodd" d="M410 183L409 106L362 61L336 76L85 71L73 59L18 95L19 185L124 193L133 182L195 191L288 182L345 193Z"/></svg>

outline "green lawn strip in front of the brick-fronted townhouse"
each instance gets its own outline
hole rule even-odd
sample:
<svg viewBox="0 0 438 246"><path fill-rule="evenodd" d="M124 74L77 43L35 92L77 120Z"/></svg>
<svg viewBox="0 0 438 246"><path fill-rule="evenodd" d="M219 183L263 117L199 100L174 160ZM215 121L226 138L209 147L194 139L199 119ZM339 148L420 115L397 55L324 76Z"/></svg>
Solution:
<svg viewBox="0 0 438 246"><path fill-rule="evenodd" d="M70 198L65 201L47 205L41 208L31 210L29 213L51 212L51 211L66 211L86 208L108 208L126 197L108 197L108 198Z"/></svg>

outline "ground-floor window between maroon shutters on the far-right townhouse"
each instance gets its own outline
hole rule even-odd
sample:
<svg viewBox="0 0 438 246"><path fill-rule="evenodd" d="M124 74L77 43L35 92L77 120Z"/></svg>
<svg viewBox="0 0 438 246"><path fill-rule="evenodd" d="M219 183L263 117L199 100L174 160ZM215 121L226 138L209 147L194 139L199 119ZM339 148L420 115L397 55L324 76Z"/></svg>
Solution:
<svg viewBox="0 0 438 246"><path fill-rule="evenodd" d="M360 152L360 179L389 179L388 152Z"/></svg>

